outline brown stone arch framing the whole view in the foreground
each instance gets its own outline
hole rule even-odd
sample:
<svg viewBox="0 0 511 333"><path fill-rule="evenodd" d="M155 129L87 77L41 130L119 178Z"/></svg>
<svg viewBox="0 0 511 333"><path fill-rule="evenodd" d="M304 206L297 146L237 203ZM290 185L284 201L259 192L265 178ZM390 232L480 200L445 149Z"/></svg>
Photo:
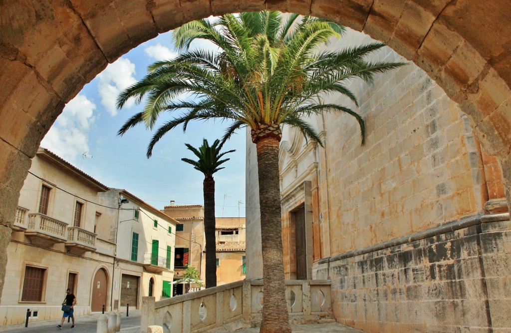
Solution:
<svg viewBox="0 0 511 333"><path fill-rule="evenodd" d="M263 9L329 18L413 60L460 103L511 185L511 7L507 0L6 0L0 5L0 242L38 144L65 103L109 62L190 20ZM0 290L7 258L0 257Z"/></svg>

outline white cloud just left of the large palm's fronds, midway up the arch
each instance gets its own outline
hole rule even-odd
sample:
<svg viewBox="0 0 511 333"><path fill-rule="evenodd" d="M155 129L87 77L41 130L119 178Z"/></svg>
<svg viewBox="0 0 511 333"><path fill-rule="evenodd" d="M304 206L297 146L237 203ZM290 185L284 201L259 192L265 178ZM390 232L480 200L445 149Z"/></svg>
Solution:
<svg viewBox="0 0 511 333"><path fill-rule="evenodd" d="M134 75L135 64L127 58L119 58L117 61L110 63L98 75L98 93L101 96L101 104L103 104L110 115L117 115L115 101L121 91L136 83ZM124 107L130 108L133 103L134 101L131 99Z"/></svg>

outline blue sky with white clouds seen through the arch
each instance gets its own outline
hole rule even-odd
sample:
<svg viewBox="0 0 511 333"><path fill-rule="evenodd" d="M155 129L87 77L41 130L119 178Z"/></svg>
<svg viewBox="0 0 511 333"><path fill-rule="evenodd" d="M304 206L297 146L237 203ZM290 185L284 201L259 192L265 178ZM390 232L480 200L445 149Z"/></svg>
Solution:
<svg viewBox="0 0 511 333"><path fill-rule="evenodd" d="M205 42L195 42L194 47L213 48ZM66 105L41 146L103 184L126 189L158 209L171 200L177 205L203 204L204 177L181 161L183 157L195 159L184 143L198 147L203 138L212 143L221 138L224 124L196 122L189 125L185 134L176 128L156 144L150 159L146 158L146 149L152 133L144 126L117 136L119 128L142 107L130 104L116 110L119 92L141 79L152 62L176 54L168 32L109 64ZM224 149L236 152L227 154L230 161L215 174L216 216L245 216L245 132L233 136ZM92 158L83 159L84 152Z"/></svg>

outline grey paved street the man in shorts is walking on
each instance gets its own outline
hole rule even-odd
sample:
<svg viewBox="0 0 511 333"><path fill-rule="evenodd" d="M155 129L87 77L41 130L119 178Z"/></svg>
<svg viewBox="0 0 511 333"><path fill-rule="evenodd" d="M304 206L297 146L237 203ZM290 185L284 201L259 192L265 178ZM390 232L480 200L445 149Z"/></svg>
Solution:
<svg viewBox="0 0 511 333"><path fill-rule="evenodd" d="M140 310L130 310L129 317L126 317L126 311L121 312L121 332L134 330L135 327L140 326ZM96 333L96 326L98 323L98 317L101 313L94 313L90 316L77 316L75 318L76 328L71 329L72 321L67 322L67 319L62 325L62 329L57 327L60 324L60 319L45 320L45 321L34 321L29 320L29 326L25 327L25 324L0 326L0 332L2 333L47 333L47 332L76 332L76 333ZM107 313L105 313L107 315ZM131 328L131 329L130 329Z"/></svg>

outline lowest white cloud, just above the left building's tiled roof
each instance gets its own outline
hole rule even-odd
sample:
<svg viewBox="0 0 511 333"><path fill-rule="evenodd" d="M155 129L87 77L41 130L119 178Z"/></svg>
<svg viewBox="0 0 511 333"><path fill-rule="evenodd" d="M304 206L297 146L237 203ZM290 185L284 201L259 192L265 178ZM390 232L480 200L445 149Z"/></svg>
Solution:
<svg viewBox="0 0 511 333"><path fill-rule="evenodd" d="M89 150L88 130L94 123L96 104L86 96L78 94L64 107L62 114L41 142L68 162L77 162L77 157Z"/></svg>

